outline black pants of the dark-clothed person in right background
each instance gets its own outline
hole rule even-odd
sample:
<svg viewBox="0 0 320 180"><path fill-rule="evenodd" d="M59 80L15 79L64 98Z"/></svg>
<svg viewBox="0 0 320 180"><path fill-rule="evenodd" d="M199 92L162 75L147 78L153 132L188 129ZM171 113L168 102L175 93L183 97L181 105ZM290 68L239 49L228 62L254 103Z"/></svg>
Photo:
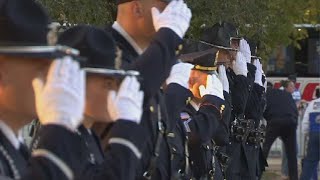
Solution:
<svg viewBox="0 0 320 180"><path fill-rule="evenodd" d="M268 157L273 142L280 137L285 145L286 156L288 158L288 169L290 180L298 180L297 165L297 126L295 124L278 124L272 121L267 125L266 141L263 144L263 154Z"/></svg>

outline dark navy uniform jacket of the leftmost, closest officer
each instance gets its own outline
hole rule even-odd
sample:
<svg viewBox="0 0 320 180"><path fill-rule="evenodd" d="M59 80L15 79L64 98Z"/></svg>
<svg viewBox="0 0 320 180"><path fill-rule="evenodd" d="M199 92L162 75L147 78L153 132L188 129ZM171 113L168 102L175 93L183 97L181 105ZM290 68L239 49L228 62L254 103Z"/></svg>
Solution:
<svg viewBox="0 0 320 180"><path fill-rule="evenodd" d="M17 178L18 174L26 180L63 180L76 177L75 172L83 169L83 148L77 134L61 126L46 125L35 138L39 149L31 156L23 145L16 150L0 131L0 177Z"/></svg>

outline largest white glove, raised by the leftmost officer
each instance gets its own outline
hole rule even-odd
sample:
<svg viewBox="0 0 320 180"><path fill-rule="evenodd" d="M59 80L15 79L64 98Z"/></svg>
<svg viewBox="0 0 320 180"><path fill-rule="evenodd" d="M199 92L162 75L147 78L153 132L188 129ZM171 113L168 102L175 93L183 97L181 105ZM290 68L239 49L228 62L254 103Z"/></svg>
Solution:
<svg viewBox="0 0 320 180"><path fill-rule="evenodd" d="M35 78L36 110L41 124L62 125L75 130L82 123L85 73L71 57L52 62L46 83Z"/></svg>

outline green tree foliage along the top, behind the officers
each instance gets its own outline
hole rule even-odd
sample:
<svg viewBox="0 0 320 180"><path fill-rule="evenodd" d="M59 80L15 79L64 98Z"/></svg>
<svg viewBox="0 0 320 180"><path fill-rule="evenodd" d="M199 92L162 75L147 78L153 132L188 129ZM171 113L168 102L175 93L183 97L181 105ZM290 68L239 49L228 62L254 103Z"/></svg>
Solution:
<svg viewBox="0 0 320 180"><path fill-rule="evenodd" d="M115 0L38 0L59 23L106 25L115 19ZM240 34L260 43L266 57L279 44L293 44L307 37L294 24L320 23L319 0L186 0L193 18L188 36L199 38L203 27L228 21Z"/></svg>

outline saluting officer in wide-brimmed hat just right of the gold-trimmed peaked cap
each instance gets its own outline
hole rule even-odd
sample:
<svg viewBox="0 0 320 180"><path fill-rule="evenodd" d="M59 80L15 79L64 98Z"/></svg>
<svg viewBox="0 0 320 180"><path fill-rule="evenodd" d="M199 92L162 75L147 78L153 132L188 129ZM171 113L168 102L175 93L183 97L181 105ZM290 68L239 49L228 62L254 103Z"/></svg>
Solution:
<svg viewBox="0 0 320 180"><path fill-rule="evenodd" d="M216 35L215 35L216 34ZM211 45L219 48L219 55L223 58L218 60L217 64L223 64L227 68L227 77L229 82L229 94L232 102L232 113L229 118L226 117L226 124L230 127L231 137L234 135L233 124L240 122L238 119L244 119L244 108L246 100L249 94L249 83L247 80L247 65L246 58L250 58L250 53L247 53L243 49L238 52L235 48L230 46L231 36L229 29L229 23L219 22L213 25L212 28L205 30L205 36L200 41L203 45ZM243 42L241 40L240 42ZM245 44L248 46L247 44ZM237 120L236 120L237 119ZM239 151L241 143L234 141L231 138L231 142L227 147L227 154L231 160L228 163L226 177L227 179L236 179L242 166L239 163L244 160L240 160ZM247 172L247 171L246 171ZM244 173L245 174L245 173Z"/></svg>

